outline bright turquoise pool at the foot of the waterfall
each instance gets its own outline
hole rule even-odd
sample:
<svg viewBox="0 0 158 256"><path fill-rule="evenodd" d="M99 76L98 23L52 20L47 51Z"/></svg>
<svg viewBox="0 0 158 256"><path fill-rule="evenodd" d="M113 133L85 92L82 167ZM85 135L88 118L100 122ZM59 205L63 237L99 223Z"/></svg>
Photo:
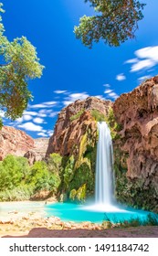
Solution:
<svg viewBox="0 0 158 256"><path fill-rule="evenodd" d="M122 220L142 219L145 220L149 211L136 210L126 207L100 208L100 206L78 205L72 203L54 203L45 206L47 217L56 216L63 221L91 221L101 223L110 219L116 223Z"/></svg>

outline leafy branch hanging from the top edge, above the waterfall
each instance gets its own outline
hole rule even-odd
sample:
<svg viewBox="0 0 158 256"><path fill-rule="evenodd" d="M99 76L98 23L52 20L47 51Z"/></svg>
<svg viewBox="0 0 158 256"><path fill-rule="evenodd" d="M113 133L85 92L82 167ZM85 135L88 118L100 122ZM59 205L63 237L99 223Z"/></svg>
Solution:
<svg viewBox="0 0 158 256"><path fill-rule="evenodd" d="M96 16L82 16L76 37L91 48L93 42L103 39L109 46L120 46L128 38L134 38L138 21L142 20L145 4L137 0L85 0L90 2Z"/></svg>

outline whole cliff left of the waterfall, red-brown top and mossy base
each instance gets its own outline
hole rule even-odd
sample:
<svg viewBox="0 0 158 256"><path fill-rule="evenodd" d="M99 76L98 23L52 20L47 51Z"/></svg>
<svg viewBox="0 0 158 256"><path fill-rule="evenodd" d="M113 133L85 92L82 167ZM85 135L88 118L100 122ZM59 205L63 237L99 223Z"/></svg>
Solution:
<svg viewBox="0 0 158 256"><path fill-rule="evenodd" d="M82 201L94 194L98 129L112 103L90 97L75 101L58 114L55 132L49 140L47 156L61 159L60 199Z"/></svg>

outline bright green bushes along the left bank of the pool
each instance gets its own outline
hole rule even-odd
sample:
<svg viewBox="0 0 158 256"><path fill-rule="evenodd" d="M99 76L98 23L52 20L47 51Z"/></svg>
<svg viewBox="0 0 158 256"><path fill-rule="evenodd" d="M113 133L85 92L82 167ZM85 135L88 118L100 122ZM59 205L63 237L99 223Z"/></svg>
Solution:
<svg viewBox="0 0 158 256"><path fill-rule="evenodd" d="M51 164L52 158L51 155ZM57 155L54 162L57 164ZM52 169L43 161L29 166L25 157L7 155L0 162L0 200L26 200L43 190L56 194L60 178L58 170Z"/></svg>

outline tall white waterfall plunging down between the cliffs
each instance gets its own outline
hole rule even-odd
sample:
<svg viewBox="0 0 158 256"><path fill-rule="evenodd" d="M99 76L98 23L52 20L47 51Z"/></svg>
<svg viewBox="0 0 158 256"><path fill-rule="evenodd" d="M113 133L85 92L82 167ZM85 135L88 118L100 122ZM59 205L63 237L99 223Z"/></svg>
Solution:
<svg viewBox="0 0 158 256"><path fill-rule="evenodd" d="M105 122L98 123L95 203L104 207L113 206L113 152L111 131Z"/></svg>

